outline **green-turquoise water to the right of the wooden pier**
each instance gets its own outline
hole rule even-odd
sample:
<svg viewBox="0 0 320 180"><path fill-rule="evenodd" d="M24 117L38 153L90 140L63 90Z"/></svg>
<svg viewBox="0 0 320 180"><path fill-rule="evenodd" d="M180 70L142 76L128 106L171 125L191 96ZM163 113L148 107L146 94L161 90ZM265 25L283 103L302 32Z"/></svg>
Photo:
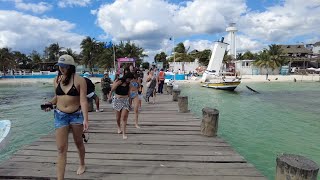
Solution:
<svg viewBox="0 0 320 180"><path fill-rule="evenodd" d="M188 96L189 109L198 117L203 107L218 109L219 136L274 179L281 153L303 155L320 165L319 89L320 83L314 82L242 83L235 92L186 84L181 94Z"/></svg>

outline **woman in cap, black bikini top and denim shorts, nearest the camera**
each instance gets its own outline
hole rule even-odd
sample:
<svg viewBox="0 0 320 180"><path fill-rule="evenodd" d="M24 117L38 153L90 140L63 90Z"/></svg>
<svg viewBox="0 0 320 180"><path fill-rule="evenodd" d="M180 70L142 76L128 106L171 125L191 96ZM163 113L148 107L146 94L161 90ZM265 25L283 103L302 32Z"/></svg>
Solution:
<svg viewBox="0 0 320 180"><path fill-rule="evenodd" d="M67 163L68 135L72 130L73 139L78 149L80 166L77 174L85 172L85 147L82 140L83 132L88 130L87 85L84 78L76 74L72 56L59 57L58 76L54 79L55 97L48 102L55 104L54 110L55 136L58 149L57 179L64 179Z"/></svg>

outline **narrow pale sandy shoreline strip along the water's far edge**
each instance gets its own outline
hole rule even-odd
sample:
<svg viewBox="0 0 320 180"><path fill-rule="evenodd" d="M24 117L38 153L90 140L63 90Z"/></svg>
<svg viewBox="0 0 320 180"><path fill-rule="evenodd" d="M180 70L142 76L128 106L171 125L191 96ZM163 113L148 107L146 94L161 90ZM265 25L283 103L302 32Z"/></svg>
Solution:
<svg viewBox="0 0 320 180"><path fill-rule="evenodd" d="M93 83L100 82L101 78L91 77ZM266 80L266 75L243 75L241 83L256 83L256 82L319 82L320 75L269 75ZM277 80L276 80L277 79ZM200 83L201 78L189 80L177 80L176 83ZM53 78L16 78L16 79L0 79L0 84L26 84L26 83L49 83L53 84Z"/></svg>

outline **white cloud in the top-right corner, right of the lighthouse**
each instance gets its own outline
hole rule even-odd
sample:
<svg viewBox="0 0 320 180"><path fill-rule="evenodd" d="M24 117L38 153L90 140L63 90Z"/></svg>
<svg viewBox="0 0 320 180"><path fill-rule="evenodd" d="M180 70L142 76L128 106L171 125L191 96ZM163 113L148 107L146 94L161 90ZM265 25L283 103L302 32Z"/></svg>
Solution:
<svg viewBox="0 0 320 180"><path fill-rule="evenodd" d="M287 0L264 12L248 12L240 19L239 29L251 38L272 43L317 36L320 29L319 0Z"/></svg>

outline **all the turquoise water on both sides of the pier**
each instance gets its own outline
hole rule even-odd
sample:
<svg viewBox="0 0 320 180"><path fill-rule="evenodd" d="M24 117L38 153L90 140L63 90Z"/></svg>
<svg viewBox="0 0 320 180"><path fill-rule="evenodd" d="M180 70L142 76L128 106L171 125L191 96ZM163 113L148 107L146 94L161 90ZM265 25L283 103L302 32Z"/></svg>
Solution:
<svg viewBox="0 0 320 180"><path fill-rule="evenodd" d="M320 83L242 83L235 92L196 84L182 88L197 116L202 116L203 107L220 111L219 136L269 179L274 177L275 159L281 153L300 154L320 165ZM43 99L52 96L53 86L48 83L0 84L0 119L12 121L0 162L53 132L52 113L40 110Z"/></svg>

